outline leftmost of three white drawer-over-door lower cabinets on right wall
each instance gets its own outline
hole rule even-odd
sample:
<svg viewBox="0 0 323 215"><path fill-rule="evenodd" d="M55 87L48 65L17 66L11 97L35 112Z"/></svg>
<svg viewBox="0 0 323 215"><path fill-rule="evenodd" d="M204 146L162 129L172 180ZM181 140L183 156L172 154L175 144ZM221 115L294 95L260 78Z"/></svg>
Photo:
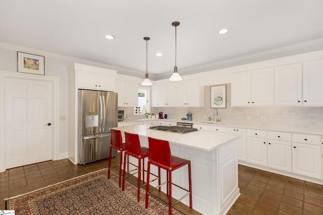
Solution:
<svg viewBox="0 0 323 215"><path fill-rule="evenodd" d="M247 130L247 162L267 166L267 131Z"/></svg>

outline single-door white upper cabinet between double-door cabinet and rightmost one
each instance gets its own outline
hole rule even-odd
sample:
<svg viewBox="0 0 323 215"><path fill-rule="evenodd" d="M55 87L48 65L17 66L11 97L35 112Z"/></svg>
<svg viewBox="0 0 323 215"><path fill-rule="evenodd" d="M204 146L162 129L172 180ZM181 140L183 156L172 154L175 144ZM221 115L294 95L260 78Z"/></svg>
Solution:
<svg viewBox="0 0 323 215"><path fill-rule="evenodd" d="M302 64L275 67L275 105L302 105Z"/></svg>

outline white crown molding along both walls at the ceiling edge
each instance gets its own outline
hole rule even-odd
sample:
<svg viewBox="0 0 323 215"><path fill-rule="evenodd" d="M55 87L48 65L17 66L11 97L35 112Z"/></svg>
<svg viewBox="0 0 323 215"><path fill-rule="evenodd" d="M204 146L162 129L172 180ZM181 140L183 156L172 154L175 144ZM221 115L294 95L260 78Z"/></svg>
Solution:
<svg viewBox="0 0 323 215"><path fill-rule="evenodd" d="M80 59L76 57L70 57L62 54L51 53L51 52L42 51L39 49L33 49L33 48L23 47L19 45L10 44L10 43L4 43L4 42L0 42L0 48L28 52L28 53L42 55L45 57L51 57L51 58L67 60L71 62L78 62L78 63L84 63L88 65L93 65L93 66L99 66L103 68L114 69L114 70L117 70L118 74L144 79L144 74L129 68L118 67L114 65L94 62L94 61ZM192 75L196 73L202 73L204 71L243 65L247 63L254 63L258 61L270 60L270 59L275 59L279 57L286 57L290 55L312 52L317 50L323 50L323 38L297 43L289 46L284 46L280 48L275 48L267 51L262 51L254 54L248 54L241 57L231 58L231 59L213 62L209 64L194 66L190 68L183 68L183 69L179 69L179 73L181 76L186 76L186 75ZM163 74L149 74L149 78L152 81L157 81L157 80L168 79L171 75L172 75L172 71L167 71Z"/></svg>

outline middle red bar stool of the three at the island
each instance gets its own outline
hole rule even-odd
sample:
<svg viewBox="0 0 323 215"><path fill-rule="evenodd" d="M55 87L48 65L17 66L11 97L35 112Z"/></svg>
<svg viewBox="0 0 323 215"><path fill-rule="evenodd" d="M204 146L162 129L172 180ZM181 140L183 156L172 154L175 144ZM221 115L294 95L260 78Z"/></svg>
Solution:
<svg viewBox="0 0 323 215"><path fill-rule="evenodd" d="M129 162L129 156L132 156L132 157L138 159L138 166L131 164L132 166L137 167L137 169L129 170L129 166L128 166L127 173L130 173L133 175L138 172L137 200L139 202L140 201L140 187L142 186L142 185L140 186L141 172L142 172L142 180L143 180L143 182L145 182L145 174L144 174L145 163L144 163L144 161L145 161L145 158L148 157L148 148L140 147L140 140L139 140L138 134L125 132L125 137L126 137L126 151L125 151L125 157L124 157L124 162L123 162L122 190L125 190L127 157L128 157L128 165L129 165L129 164L131 164ZM142 161L142 170L141 170L141 161Z"/></svg>

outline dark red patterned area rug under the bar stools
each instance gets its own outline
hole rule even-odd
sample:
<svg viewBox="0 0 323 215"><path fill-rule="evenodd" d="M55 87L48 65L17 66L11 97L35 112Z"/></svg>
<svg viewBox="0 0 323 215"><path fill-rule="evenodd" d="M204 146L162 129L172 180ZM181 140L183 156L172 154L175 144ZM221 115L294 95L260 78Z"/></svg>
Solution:
<svg viewBox="0 0 323 215"><path fill-rule="evenodd" d="M149 196L145 208L145 190L126 181L125 191L119 188L119 176L107 169L51 185L6 201L15 214L168 214L168 206ZM173 208L173 214L183 214Z"/></svg>

